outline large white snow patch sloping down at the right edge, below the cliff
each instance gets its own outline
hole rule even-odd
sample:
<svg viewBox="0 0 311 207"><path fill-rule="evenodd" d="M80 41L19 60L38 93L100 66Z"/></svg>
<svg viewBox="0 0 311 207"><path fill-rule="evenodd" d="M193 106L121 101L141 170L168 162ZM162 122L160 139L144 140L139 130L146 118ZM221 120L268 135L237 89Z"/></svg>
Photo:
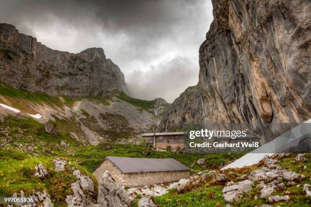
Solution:
<svg viewBox="0 0 311 207"><path fill-rule="evenodd" d="M311 119L307 120L304 123L311 123ZM271 156L274 153L262 153L262 152L279 152L280 149L283 149L288 143L294 141L298 137L301 137L310 132L310 130L301 130L301 125L298 125L292 128L290 131L282 134L281 136L276 137L271 142L257 148L256 150L252 151L251 153L247 153L246 155L240 157L239 159L235 160L234 162L228 164L227 166L223 167L222 169L228 168L239 168L244 166L250 166L253 164L259 163L266 155ZM294 136L290 135L294 134Z"/></svg>

